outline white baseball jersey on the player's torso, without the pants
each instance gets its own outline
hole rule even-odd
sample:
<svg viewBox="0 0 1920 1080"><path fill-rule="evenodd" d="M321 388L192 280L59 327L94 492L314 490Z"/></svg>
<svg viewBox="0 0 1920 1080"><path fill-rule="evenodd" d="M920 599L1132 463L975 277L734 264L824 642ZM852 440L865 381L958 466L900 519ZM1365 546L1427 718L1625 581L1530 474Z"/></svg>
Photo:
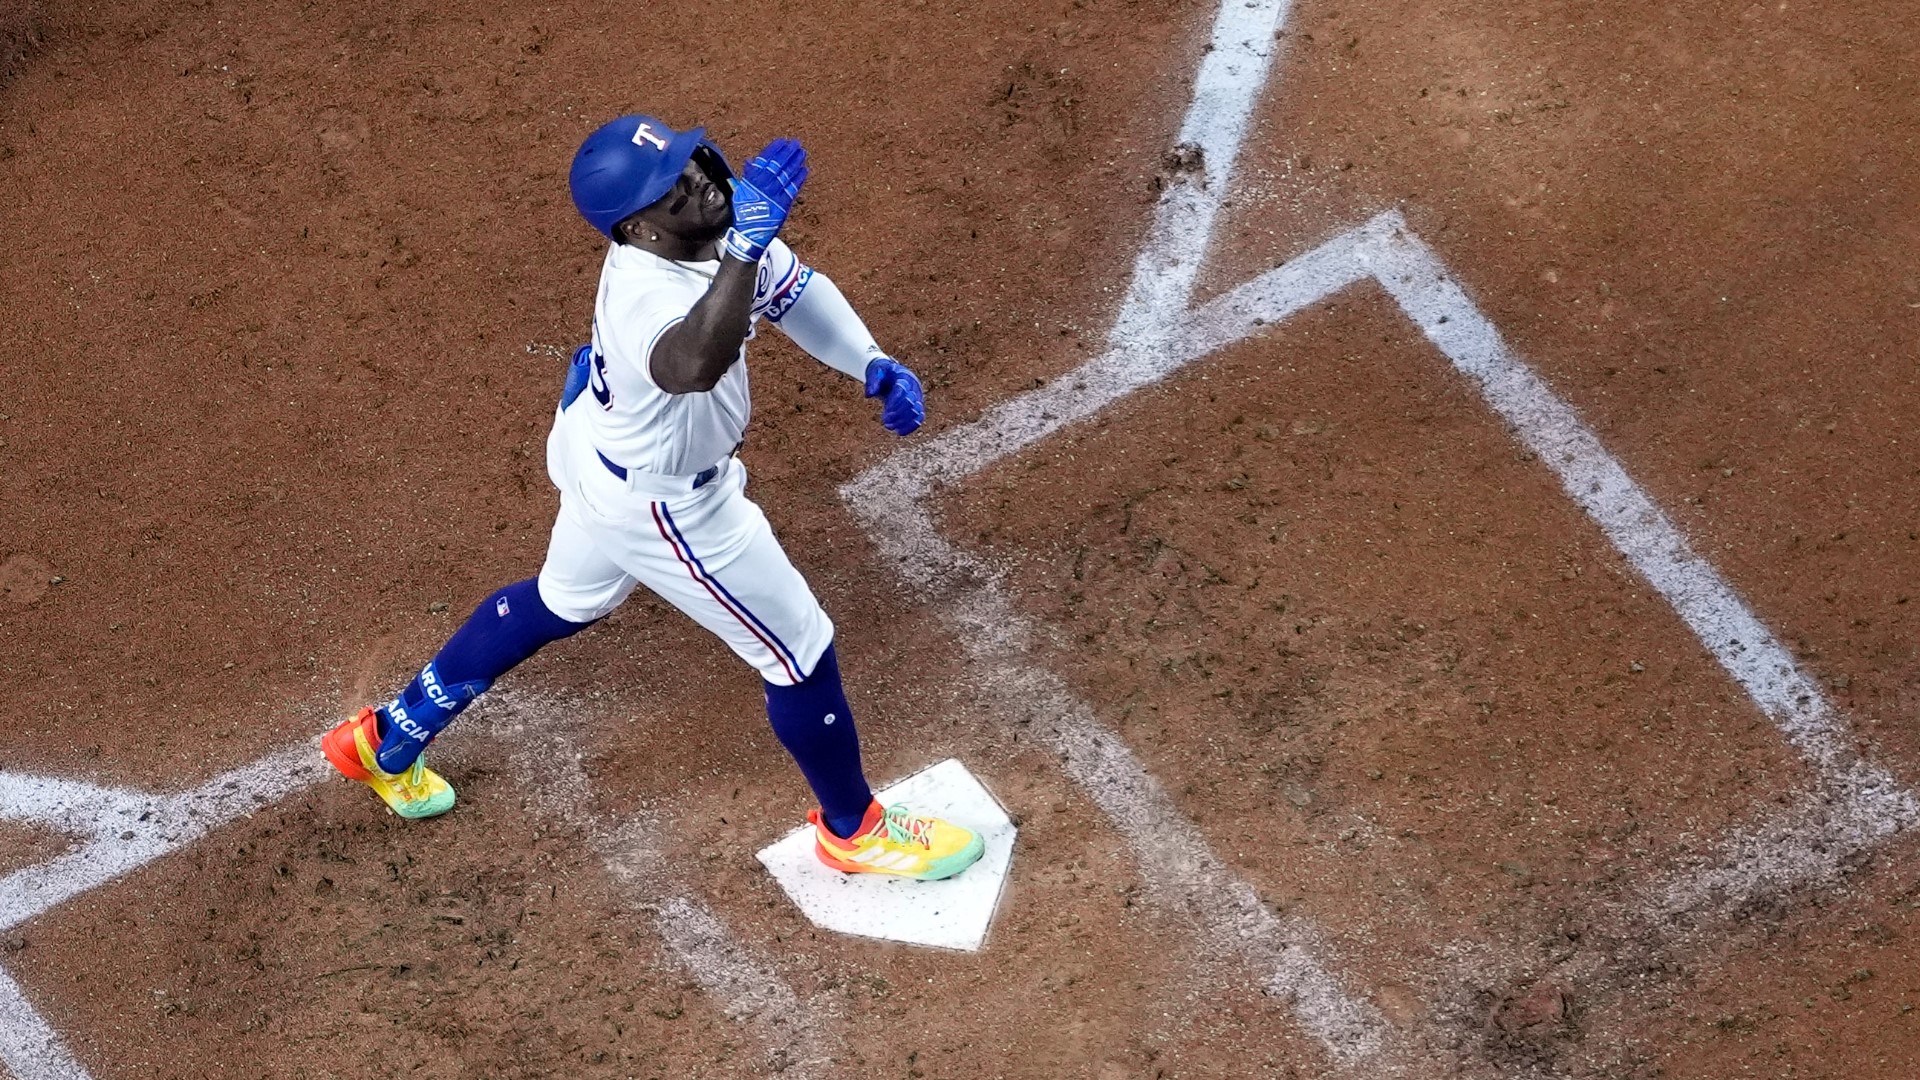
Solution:
<svg viewBox="0 0 1920 1080"><path fill-rule="evenodd" d="M747 346L720 382L703 394L668 394L653 382L655 342L707 294L720 261L676 263L628 244L612 244L593 304L593 367L588 392L568 413L593 446L624 469L691 475L718 463L747 434L753 404ZM778 238L760 258L753 298L753 340L762 315L776 321L804 288L810 271Z"/></svg>

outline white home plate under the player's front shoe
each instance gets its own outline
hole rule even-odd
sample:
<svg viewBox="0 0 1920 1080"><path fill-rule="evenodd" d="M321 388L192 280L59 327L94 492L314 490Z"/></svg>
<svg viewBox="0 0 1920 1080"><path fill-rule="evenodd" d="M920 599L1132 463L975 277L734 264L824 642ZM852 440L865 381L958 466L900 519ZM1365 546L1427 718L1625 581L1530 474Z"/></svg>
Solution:
<svg viewBox="0 0 1920 1080"><path fill-rule="evenodd" d="M966 765L954 759L893 784L879 792L879 801L889 807L906 803L914 813L964 824L979 832L987 851L979 863L943 882L843 874L814 855L814 830L804 826L762 849L760 863L822 930L977 951L1000 907L1006 871L1014 861L1014 822Z"/></svg>

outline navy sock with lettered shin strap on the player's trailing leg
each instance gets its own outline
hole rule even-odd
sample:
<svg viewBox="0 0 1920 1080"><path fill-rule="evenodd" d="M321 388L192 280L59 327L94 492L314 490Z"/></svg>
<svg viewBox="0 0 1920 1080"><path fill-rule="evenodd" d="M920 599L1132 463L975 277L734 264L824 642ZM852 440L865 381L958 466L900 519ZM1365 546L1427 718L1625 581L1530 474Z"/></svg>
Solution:
<svg viewBox="0 0 1920 1080"><path fill-rule="evenodd" d="M536 582L526 578L482 600L413 682L378 709L380 769L399 773L413 765L495 678L541 646L589 626L549 611Z"/></svg>

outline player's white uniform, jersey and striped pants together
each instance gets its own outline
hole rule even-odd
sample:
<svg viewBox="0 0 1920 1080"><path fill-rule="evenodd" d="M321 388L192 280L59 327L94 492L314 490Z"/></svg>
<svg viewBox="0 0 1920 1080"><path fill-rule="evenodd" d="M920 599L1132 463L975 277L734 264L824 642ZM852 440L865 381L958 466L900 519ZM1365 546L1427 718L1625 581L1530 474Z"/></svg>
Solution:
<svg viewBox="0 0 1920 1080"><path fill-rule="evenodd" d="M712 390L695 394L660 390L647 365L718 269L624 244L607 252L588 390L547 436L561 511L540 600L563 619L591 623L645 584L762 678L791 686L833 642L833 621L745 496L747 467L732 457L753 413L747 350ZM810 277L774 240L760 259L755 323L785 315Z"/></svg>

